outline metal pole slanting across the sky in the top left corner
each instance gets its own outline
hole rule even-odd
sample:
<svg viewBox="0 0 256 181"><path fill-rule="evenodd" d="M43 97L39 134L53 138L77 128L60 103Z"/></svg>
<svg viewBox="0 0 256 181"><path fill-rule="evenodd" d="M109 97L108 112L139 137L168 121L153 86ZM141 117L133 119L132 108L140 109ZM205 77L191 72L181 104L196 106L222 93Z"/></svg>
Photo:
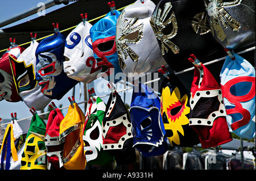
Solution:
<svg viewBox="0 0 256 181"><path fill-rule="evenodd" d="M59 0L59 2L62 3L62 2L64 2L64 0ZM49 7L55 6L56 4L54 3L53 0L48 0L44 3L44 5L46 6L46 9L48 9ZM6 26L6 25L11 24L11 23L14 23L14 22L16 22L20 19L26 18L27 16L36 14L40 8L41 8L40 6L39 7L35 6L35 7L32 7L31 9L29 9L29 10L23 11L23 12L17 14L17 15L14 15L14 16L11 16L10 18L2 20L0 22L0 27Z"/></svg>

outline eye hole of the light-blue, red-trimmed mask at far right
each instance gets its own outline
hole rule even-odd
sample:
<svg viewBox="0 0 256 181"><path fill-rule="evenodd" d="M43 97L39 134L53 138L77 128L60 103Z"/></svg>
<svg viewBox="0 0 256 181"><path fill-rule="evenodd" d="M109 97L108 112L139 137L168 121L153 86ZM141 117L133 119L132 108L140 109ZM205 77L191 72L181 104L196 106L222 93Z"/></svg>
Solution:
<svg viewBox="0 0 256 181"><path fill-rule="evenodd" d="M230 93L234 96L244 96L251 90L252 82L238 82L230 87Z"/></svg>

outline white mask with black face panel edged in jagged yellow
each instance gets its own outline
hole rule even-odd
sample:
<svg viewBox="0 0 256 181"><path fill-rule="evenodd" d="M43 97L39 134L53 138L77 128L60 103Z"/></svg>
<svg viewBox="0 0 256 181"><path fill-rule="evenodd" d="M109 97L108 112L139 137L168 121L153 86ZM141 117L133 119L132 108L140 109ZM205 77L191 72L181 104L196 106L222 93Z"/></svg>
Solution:
<svg viewBox="0 0 256 181"><path fill-rule="evenodd" d="M43 95L40 91L38 81L36 81L36 57L35 51L38 47L37 41L31 41L28 47L18 59L9 55L11 70L13 71L16 89L28 108L34 107L35 110L42 110L47 106L51 99ZM38 101L40 100L40 101Z"/></svg>

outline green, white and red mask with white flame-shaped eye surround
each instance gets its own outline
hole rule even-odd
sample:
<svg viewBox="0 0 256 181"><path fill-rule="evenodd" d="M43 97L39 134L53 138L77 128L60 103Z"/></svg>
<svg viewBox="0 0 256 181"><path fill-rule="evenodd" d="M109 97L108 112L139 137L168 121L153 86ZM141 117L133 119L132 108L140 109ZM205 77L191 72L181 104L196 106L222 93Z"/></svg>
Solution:
<svg viewBox="0 0 256 181"><path fill-rule="evenodd" d="M84 125L84 151L86 162L89 165L102 166L113 161L113 155L108 150L103 150L102 140L102 120L104 117L106 105L100 97L94 96L87 104L85 113L86 120Z"/></svg>

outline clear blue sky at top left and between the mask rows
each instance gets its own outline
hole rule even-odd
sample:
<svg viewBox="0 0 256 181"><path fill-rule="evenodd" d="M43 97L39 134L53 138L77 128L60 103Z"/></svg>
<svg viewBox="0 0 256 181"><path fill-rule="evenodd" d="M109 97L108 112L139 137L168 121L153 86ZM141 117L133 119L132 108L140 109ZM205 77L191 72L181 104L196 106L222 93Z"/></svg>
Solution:
<svg viewBox="0 0 256 181"><path fill-rule="evenodd" d="M11 16L14 16L16 14L19 14L20 12L31 9L32 7L37 6L39 2L46 2L46 1L47 0L22 0L22 1L20 1L20 0L9 0L9 1L1 0L0 1L0 21L10 18ZM46 9L46 14L53 10L59 9L63 6L65 6L65 5L55 5L53 7L50 7L49 9ZM22 20L19 20L18 22L9 24L9 25L7 25L5 27L1 27L1 28L12 27L12 26L15 26L16 24L24 23L27 20L31 20L31 19L35 19L35 18L38 18L37 14L28 16L27 18L24 18ZM96 86L96 85L93 85L93 84L88 85L89 88L94 87L94 86ZM122 86L119 86L119 87L120 87L120 89L123 88ZM79 94L79 92L80 92L79 84L77 84L75 86L75 90L76 90L76 92L75 92L76 102L84 101L84 94L83 94L84 93L84 84L81 83L81 92L82 92L81 98L79 96L80 95ZM95 90L96 90L97 95L106 94L105 92L97 92L97 89L95 89ZM69 91L61 100L53 100L53 102L55 102L56 106L59 106L60 104L63 104L63 107L68 106L69 105L68 97L72 96L72 91L73 90ZM123 96L123 93L120 93L120 95ZM126 102L129 103L130 99L131 99L130 96L127 96ZM108 101L108 97L104 98L103 100L106 103ZM84 104L80 104L80 107L82 110L84 110ZM48 106L44 110L47 111L47 109L48 109ZM68 111L68 109L63 110L64 115L67 113L67 111ZM24 102L11 103L11 102L7 102L6 100L2 100L0 102L0 117L3 120L10 119L11 112L16 112L18 119L23 119L24 117L32 116L31 112L29 111L29 108L26 106L26 104L24 104ZM40 113L40 111L38 111L38 113Z"/></svg>

